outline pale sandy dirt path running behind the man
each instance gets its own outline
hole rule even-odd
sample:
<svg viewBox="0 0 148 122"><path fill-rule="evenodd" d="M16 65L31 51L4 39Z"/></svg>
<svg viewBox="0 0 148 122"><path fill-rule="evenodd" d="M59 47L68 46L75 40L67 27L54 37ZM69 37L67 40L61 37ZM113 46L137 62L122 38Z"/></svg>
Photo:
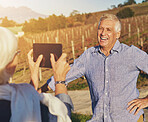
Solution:
<svg viewBox="0 0 148 122"><path fill-rule="evenodd" d="M148 88L140 89L140 97L148 95ZM74 104L74 112L81 114L92 114L91 112L91 100L88 90L76 90L69 91L68 94L71 96ZM146 122L148 122L148 109L144 109Z"/></svg>

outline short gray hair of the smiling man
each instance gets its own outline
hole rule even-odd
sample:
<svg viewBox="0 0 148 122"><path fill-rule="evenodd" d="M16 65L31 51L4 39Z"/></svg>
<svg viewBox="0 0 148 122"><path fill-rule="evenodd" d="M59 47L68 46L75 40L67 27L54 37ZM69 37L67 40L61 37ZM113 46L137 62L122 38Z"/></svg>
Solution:
<svg viewBox="0 0 148 122"><path fill-rule="evenodd" d="M100 26L101 21L103 21L103 20L114 20L116 22L115 31L116 32L121 31L121 22L116 15L114 15L114 14L103 14L100 18L99 26Z"/></svg>

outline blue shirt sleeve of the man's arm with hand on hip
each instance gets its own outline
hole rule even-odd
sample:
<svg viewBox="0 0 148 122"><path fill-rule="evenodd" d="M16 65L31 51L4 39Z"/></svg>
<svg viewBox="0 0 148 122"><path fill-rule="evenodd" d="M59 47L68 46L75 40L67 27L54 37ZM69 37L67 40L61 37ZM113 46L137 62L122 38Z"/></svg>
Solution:
<svg viewBox="0 0 148 122"><path fill-rule="evenodd" d="M134 58L136 66L139 70L142 70L148 74L148 54L137 47L135 48Z"/></svg>

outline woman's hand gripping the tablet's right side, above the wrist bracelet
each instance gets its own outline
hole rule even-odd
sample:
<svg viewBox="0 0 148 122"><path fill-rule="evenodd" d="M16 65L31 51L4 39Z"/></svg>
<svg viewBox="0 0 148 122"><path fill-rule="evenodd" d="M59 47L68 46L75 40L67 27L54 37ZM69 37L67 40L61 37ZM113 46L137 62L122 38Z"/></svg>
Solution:
<svg viewBox="0 0 148 122"><path fill-rule="evenodd" d="M66 62L67 54L63 53L58 61L55 61L53 54L50 54L50 56L55 81L65 81L66 74L70 70L70 66Z"/></svg>

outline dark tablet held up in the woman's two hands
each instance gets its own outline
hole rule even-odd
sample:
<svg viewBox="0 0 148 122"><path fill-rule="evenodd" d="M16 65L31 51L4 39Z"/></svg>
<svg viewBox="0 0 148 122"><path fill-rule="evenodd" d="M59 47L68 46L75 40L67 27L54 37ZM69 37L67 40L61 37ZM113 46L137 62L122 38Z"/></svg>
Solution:
<svg viewBox="0 0 148 122"><path fill-rule="evenodd" d="M50 43L34 43L33 44L33 60L36 61L40 54L43 55L40 67L52 68L50 62L50 53L54 54L57 61L62 55L62 44Z"/></svg>

